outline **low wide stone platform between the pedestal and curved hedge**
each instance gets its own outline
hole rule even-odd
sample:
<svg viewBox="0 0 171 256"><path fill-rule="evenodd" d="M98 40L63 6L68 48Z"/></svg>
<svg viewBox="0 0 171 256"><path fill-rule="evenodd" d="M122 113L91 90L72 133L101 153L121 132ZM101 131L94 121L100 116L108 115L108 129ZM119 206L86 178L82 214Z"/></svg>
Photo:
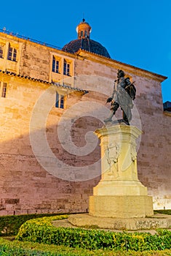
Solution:
<svg viewBox="0 0 171 256"><path fill-rule="evenodd" d="M170 228L171 216L155 214L151 218L106 218L92 217L89 214L69 215L68 222L77 227L98 227L110 230L154 230Z"/></svg>

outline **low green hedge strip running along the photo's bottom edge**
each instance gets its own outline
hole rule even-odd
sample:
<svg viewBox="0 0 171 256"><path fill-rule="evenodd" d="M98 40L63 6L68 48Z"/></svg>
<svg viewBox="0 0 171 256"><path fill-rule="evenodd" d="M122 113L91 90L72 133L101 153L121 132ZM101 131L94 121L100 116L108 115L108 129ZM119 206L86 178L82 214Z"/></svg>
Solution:
<svg viewBox="0 0 171 256"><path fill-rule="evenodd" d="M1 256L169 256L171 250L157 252L114 252L112 250L95 250L89 251L81 248L70 248L67 246L55 246L37 244L21 241L7 241L0 238L0 255Z"/></svg>

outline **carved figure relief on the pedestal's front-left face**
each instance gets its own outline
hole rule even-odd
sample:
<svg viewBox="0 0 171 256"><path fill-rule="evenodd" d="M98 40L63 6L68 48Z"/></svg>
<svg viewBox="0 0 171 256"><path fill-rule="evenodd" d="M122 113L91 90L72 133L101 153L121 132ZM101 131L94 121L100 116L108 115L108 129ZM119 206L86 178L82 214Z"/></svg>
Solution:
<svg viewBox="0 0 171 256"><path fill-rule="evenodd" d="M119 177L119 170L118 170L118 157L120 153L120 147L118 143L109 143L106 146L105 154L106 160L108 162L109 176L115 176L115 178Z"/></svg>

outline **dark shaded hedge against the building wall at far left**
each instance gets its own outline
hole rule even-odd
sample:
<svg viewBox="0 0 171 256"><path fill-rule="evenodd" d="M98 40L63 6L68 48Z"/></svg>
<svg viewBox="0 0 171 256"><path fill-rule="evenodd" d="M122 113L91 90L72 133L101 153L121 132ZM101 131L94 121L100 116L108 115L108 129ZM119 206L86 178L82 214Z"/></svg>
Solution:
<svg viewBox="0 0 171 256"><path fill-rule="evenodd" d="M16 236L20 226L29 219L56 216L57 214L23 214L0 217L0 236Z"/></svg>

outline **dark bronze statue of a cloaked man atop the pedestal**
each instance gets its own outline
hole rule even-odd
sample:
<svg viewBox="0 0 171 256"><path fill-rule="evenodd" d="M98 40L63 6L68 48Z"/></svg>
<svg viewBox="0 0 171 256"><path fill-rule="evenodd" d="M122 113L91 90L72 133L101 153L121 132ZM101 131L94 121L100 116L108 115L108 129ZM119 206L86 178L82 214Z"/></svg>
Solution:
<svg viewBox="0 0 171 256"><path fill-rule="evenodd" d="M111 114L104 121L112 121L112 117L120 106L123 112L123 120L129 125L132 119L131 109L133 108L136 89L134 84L130 82L130 78L124 78L124 71L121 69L118 69L117 78L114 81L114 92L107 99L107 102L111 102Z"/></svg>

